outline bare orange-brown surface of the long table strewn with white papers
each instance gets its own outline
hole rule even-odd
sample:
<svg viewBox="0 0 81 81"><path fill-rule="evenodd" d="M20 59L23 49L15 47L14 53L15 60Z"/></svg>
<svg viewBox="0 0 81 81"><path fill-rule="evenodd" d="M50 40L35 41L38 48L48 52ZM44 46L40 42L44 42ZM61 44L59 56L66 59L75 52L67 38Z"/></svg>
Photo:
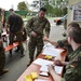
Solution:
<svg viewBox="0 0 81 81"><path fill-rule="evenodd" d="M56 56L56 58L57 58L57 59L60 59L60 60L65 60L66 54L67 54L67 52L64 51L62 54L59 54L58 56ZM37 58L44 58L44 56L45 56L45 55L43 55L43 54L41 53L41 54L39 54L39 56L38 56ZM24 71L24 73L17 79L17 81L26 81L26 80L25 80L25 76L30 75L31 72L37 72L38 76L39 76L39 73L40 73L40 68L41 68L41 66L31 63L31 65ZM63 73L63 72L62 72L62 73ZM62 73L60 73L60 76L62 76ZM40 78L41 78L41 79L45 79L46 81L54 81L51 76L49 76L49 77L41 77L41 76L39 76L39 79L40 79Z"/></svg>

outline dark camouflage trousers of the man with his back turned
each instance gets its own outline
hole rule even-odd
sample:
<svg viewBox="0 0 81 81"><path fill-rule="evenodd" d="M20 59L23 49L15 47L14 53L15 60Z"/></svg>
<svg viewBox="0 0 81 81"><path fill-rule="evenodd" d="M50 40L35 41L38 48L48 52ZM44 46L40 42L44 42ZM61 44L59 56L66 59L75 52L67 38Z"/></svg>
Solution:
<svg viewBox="0 0 81 81"><path fill-rule="evenodd" d="M9 44L13 44L13 42L15 40L14 38L19 43L18 48L19 48L21 52L23 53L24 52L24 46L23 46L23 43L22 43L22 41L23 41L23 32L22 31L18 31L18 32L15 32L15 33L10 32L10 37L9 37L10 43ZM12 50L10 51L10 53L12 53Z"/></svg>

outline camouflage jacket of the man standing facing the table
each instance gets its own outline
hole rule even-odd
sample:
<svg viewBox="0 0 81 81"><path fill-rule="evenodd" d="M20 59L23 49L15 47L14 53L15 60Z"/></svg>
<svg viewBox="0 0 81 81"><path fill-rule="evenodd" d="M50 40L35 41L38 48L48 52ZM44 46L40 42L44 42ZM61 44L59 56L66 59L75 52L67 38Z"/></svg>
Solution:
<svg viewBox="0 0 81 81"><path fill-rule="evenodd" d="M31 31L35 31L37 36L48 36L50 35L50 22L43 17L39 18L38 16L32 17L28 21L26 29L28 36L30 36Z"/></svg>

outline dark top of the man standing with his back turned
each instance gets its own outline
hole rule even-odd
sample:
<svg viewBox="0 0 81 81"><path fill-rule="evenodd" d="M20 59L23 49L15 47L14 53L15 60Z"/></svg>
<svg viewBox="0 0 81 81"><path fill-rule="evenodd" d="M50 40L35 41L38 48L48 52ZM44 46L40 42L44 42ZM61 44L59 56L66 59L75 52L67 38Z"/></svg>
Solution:
<svg viewBox="0 0 81 81"><path fill-rule="evenodd" d="M17 32L23 29L24 22L21 15L11 13L8 16L6 24L11 32Z"/></svg>

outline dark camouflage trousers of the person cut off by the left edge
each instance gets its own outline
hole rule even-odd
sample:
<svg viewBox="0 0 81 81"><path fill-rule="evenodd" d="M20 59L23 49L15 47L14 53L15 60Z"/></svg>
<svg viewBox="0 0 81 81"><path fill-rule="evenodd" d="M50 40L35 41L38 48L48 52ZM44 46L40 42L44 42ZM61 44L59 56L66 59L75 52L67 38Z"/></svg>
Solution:
<svg viewBox="0 0 81 81"><path fill-rule="evenodd" d="M0 42L0 75L2 73L4 64L5 64L5 54L4 54L3 43Z"/></svg>

